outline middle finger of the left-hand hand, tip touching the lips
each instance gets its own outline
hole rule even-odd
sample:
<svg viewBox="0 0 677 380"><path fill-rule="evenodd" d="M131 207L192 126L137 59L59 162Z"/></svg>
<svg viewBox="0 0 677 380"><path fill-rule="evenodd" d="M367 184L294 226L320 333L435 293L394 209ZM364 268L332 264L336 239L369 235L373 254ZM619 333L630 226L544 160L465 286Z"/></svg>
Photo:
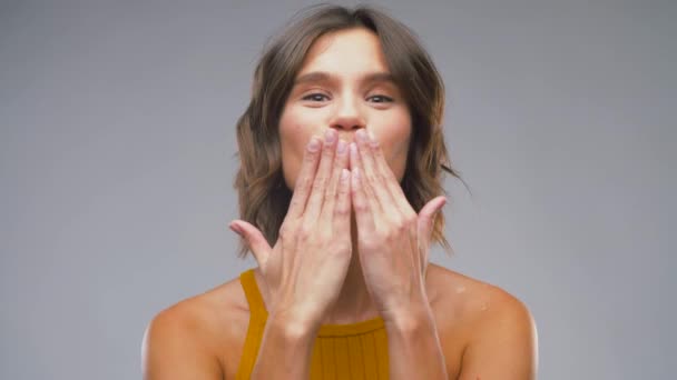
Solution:
<svg viewBox="0 0 677 380"><path fill-rule="evenodd" d="M320 167L317 168L315 179L313 180L308 203L303 212L303 218L306 222L314 223L320 217L324 202L324 192L326 191L327 183L332 176L332 164L334 163L337 139L338 134L335 130L331 128L326 130Z"/></svg>

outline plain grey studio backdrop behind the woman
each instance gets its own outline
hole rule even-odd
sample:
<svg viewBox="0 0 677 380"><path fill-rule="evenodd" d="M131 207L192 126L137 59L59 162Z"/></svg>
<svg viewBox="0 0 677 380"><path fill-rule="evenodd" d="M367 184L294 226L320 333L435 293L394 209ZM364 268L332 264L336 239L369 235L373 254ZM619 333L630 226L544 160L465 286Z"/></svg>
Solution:
<svg viewBox="0 0 677 380"><path fill-rule="evenodd" d="M234 124L308 3L1 2L1 379L139 378L155 313L253 266ZM442 72L473 191L447 182L433 261L529 306L541 379L671 378L677 2L383 4Z"/></svg>

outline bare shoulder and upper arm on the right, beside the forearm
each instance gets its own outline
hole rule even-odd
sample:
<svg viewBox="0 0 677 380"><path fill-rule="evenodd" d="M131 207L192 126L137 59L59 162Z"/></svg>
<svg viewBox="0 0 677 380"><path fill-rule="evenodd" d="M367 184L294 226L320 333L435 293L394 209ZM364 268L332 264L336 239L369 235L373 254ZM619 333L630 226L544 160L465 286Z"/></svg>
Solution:
<svg viewBox="0 0 677 380"><path fill-rule="evenodd" d="M453 363L459 379L534 378L536 322L524 302L498 286L440 266L430 267L426 287L440 340L459 358Z"/></svg>

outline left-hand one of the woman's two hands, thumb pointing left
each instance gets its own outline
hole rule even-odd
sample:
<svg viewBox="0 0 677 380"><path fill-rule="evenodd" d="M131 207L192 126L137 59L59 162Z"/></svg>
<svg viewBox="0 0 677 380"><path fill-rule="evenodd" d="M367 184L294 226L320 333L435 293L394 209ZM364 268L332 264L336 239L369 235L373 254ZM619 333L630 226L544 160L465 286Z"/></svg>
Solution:
<svg viewBox="0 0 677 380"><path fill-rule="evenodd" d="M271 318L317 329L343 286L351 261L347 143L327 129L311 138L274 248L251 223L234 220L268 289Z"/></svg>

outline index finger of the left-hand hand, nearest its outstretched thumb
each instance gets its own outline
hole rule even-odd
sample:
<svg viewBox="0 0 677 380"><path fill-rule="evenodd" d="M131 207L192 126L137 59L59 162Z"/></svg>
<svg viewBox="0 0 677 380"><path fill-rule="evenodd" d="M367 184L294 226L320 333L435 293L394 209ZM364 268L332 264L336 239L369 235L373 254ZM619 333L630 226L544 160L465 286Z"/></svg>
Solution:
<svg viewBox="0 0 677 380"><path fill-rule="evenodd" d="M303 163L296 177L296 184L294 186L294 194L290 201L290 209L287 210L286 218L300 218L308 199L308 194L313 187L313 180L315 179L315 171L317 170L317 162L320 161L320 152L322 150L322 141L318 137L313 136L305 147L303 154Z"/></svg>

